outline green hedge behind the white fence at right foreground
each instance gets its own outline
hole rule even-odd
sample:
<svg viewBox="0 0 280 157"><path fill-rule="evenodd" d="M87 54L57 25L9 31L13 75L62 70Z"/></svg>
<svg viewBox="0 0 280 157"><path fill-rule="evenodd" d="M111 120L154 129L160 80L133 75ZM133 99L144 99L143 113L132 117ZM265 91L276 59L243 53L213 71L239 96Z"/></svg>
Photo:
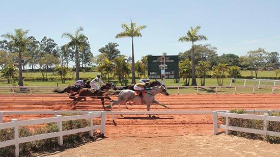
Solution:
<svg viewBox="0 0 280 157"><path fill-rule="evenodd" d="M237 114L245 114L245 110L243 109L235 109L231 110L231 113ZM270 113L270 116L280 116L280 113ZM219 118L223 124L226 124L226 118L221 117ZM253 119L241 119L241 118L230 118L230 125L237 126L237 127L247 127L247 128L255 128L255 129L263 129L263 120L253 120ZM273 122L269 121L268 130L272 132L280 132L280 122ZM264 136L259 134L251 134L251 133L244 133L244 132L237 132L229 130L229 134L239 137L245 137L248 139L259 139L264 140L269 143L280 143L280 137L273 137L273 136Z"/></svg>

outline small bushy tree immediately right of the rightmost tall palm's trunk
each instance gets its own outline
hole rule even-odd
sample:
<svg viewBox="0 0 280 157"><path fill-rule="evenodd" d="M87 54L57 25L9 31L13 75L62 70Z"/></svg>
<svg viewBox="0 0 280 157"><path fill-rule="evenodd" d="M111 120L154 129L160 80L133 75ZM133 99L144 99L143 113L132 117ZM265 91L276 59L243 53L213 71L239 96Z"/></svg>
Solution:
<svg viewBox="0 0 280 157"><path fill-rule="evenodd" d="M201 86L205 86L205 78L210 70L210 62L199 61L197 66L198 77L200 78Z"/></svg>

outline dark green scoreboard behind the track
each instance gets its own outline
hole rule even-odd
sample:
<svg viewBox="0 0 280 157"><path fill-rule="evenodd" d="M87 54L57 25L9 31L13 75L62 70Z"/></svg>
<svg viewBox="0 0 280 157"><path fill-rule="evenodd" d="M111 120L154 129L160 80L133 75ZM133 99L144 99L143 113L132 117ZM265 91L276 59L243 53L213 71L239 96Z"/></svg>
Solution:
<svg viewBox="0 0 280 157"><path fill-rule="evenodd" d="M179 57L165 57L165 79L179 79ZM148 78L161 79L160 65L163 64L162 56L148 56Z"/></svg>

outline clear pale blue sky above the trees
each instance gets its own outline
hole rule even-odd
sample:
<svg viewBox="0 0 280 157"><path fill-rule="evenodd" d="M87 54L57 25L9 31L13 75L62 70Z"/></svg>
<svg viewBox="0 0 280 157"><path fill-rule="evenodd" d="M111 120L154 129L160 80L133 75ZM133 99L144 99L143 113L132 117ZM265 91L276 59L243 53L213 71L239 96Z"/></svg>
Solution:
<svg viewBox="0 0 280 157"><path fill-rule="evenodd" d="M142 56L178 55L191 47L179 42L189 28L201 26L200 34L218 55L246 55L259 47L280 53L280 1L3 1L0 34L22 28L41 40L44 36L59 45L83 27L94 56L108 42L117 42L124 55L131 55L131 39L116 39L121 24L130 18L147 25L141 38L134 39L135 59ZM3 38L0 38L3 40Z"/></svg>

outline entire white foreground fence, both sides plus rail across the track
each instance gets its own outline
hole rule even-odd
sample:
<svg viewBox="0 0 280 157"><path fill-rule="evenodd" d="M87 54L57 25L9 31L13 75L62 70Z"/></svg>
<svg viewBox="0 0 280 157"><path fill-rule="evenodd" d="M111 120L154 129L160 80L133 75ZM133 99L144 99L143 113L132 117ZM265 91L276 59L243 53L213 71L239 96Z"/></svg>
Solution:
<svg viewBox="0 0 280 157"><path fill-rule="evenodd" d="M90 136L93 136L93 130L96 130L96 129L100 129L101 134L105 135L106 115L212 114L214 135L216 135L218 133L218 128L222 128L222 129L226 129L226 133L228 133L228 130L236 130L239 132L246 132L246 133L280 136L280 133L271 132L271 131L267 130L269 121L280 122L280 117L268 116L267 113L271 113L271 112L280 113L280 110L247 110L246 111L246 113L265 113L264 115L232 114L232 113L228 113L226 110L221 110L221 111L114 111L114 112L105 112L105 111L3 111L3 112L0 112L1 122L3 120L4 115L53 114L55 117L33 119L33 120L22 120L22 121L18 121L17 119L12 119L11 122L0 123L0 129L14 128L14 139L0 142L0 148L14 145L15 146L14 155L19 156L19 144L20 143L57 137L58 144L63 145L63 136L65 136L65 135L76 134L76 133L81 133L81 132L90 132ZM61 115L59 115L59 114L65 114L65 113L77 113L77 114L83 114L83 115L65 116L65 117L62 117ZM217 116L226 117L226 125L219 125ZM93 118L97 118L97 117L101 117L101 125L93 125ZM230 126L230 118L264 120L264 130ZM78 128L78 129L72 129L72 130L62 130L63 121L78 120L78 119L89 119L90 126ZM36 125L36 124L52 123L52 122L57 123L58 132L19 138L18 127L20 127L20 126Z"/></svg>

